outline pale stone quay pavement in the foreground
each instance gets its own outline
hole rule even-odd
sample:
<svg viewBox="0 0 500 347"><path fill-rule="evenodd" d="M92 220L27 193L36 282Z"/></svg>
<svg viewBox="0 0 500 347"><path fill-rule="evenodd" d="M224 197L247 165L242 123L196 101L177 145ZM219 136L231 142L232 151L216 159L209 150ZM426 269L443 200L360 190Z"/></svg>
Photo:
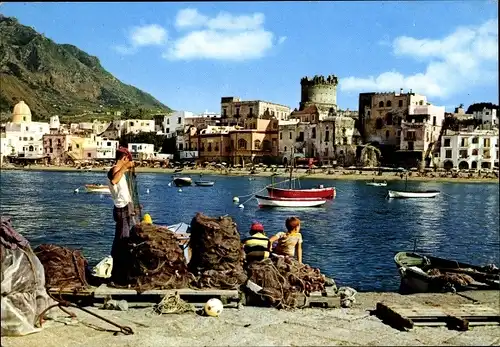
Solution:
<svg viewBox="0 0 500 347"><path fill-rule="evenodd" d="M64 323L47 321L40 333L3 337L4 347L102 347L102 346L498 346L498 325L472 326L468 331L446 326L416 326L399 331L370 314L377 302L410 308L481 305L498 310L499 291L457 294L358 293L352 308L276 310L244 306L224 309L219 318L196 313L159 316L151 308L128 311L92 308L112 321L129 326L134 334L113 335L116 328L77 309ZM111 329L106 331L105 329Z"/></svg>

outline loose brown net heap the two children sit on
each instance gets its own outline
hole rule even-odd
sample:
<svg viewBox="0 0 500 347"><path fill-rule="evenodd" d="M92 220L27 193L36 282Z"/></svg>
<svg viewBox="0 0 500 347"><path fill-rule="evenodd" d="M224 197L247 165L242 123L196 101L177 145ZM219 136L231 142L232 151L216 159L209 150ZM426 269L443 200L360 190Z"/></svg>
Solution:
<svg viewBox="0 0 500 347"><path fill-rule="evenodd" d="M325 276L319 269L289 257L253 262L248 266L248 275L262 287L258 295L264 304L276 308L302 307L306 296L325 289Z"/></svg>

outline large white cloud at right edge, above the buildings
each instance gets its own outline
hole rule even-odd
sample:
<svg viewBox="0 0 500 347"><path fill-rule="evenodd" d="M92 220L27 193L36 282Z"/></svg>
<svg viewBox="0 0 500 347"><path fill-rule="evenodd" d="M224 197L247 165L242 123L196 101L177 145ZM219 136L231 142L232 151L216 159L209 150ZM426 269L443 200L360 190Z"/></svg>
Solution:
<svg viewBox="0 0 500 347"><path fill-rule="evenodd" d="M403 75L397 71L374 77L347 77L345 91L391 91L404 88L430 97L447 98L473 84L495 82L498 77L498 20L479 26L459 27L442 39L400 36L393 53L427 64L424 71Z"/></svg>

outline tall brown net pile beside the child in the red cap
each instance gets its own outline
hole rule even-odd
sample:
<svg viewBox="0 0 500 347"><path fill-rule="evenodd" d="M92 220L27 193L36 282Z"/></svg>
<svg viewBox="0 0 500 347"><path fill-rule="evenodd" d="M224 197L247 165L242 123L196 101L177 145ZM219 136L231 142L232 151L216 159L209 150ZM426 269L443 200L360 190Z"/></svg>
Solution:
<svg viewBox="0 0 500 347"><path fill-rule="evenodd" d="M231 217L197 213L191 221L189 269L199 288L237 289L247 280L240 234Z"/></svg>

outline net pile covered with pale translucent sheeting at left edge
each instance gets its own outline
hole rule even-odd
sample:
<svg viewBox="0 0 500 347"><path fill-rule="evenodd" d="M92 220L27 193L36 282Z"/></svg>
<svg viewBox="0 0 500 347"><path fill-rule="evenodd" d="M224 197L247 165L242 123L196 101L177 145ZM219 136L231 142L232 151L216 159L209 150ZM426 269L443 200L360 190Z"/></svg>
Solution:
<svg viewBox="0 0 500 347"><path fill-rule="evenodd" d="M53 304L45 290L40 260L28 241L2 216L0 227L2 266L1 335L20 336L40 331L38 316Z"/></svg>

